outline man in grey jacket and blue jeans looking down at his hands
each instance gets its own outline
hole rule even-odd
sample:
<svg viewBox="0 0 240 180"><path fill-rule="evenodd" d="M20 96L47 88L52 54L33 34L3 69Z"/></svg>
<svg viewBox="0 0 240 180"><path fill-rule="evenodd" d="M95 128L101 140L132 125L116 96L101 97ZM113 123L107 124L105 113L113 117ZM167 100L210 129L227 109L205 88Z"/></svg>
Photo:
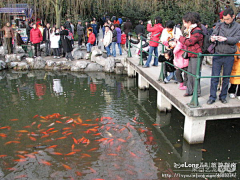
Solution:
<svg viewBox="0 0 240 180"><path fill-rule="evenodd" d="M235 54L237 51L236 44L240 40L240 25L235 22L234 11L231 8L223 12L222 23L217 24L214 29L211 41L216 42L216 54ZM212 65L212 76L219 76L223 68L223 76L229 76L232 72L234 56L214 56ZM211 78L210 96L207 104L213 104L217 98L217 86L219 78ZM229 77L223 78L222 90L219 100L226 104Z"/></svg>

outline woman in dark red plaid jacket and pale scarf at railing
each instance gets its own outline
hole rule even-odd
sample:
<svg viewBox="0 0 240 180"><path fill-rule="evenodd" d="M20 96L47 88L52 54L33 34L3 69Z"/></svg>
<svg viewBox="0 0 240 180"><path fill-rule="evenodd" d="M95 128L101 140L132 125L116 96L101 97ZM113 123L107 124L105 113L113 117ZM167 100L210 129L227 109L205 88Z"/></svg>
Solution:
<svg viewBox="0 0 240 180"><path fill-rule="evenodd" d="M200 15L196 12L188 12L183 16L183 25L186 27L184 30L184 36L177 37L176 39L179 40L180 43L187 47L188 51L194 53L202 53L202 46L203 46L203 35L197 31L201 30L201 18ZM195 32L196 31L196 32ZM197 70L197 62L198 58L196 54L188 53L189 57L189 64L187 71L193 75L196 75ZM187 76L187 90L184 96L192 96L194 85L195 85L195 78L188 74ZM201 86L199 82L198 86L198 96L201 96Z"/></svg>

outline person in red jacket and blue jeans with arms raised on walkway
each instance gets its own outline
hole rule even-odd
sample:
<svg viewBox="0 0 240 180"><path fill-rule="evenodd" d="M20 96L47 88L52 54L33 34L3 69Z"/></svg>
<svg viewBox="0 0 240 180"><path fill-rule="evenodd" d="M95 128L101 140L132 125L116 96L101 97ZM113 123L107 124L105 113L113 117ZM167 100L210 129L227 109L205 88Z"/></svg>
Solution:
<svg viewBox="0 0 240 180"><path fill-rule="evenodd" d="M158 66L158 41L164 29L162 27L161 22L162 22L162 19L160 17L155 18L155 25L153 27L152 27L151 21L148 22L147 31L151 32L151 37L149 42L149 45L150 45L149 56L146 64L143 66L144 68L149 67L149 64L152 60L153 52L155 54L153 66Z"/></svg>

